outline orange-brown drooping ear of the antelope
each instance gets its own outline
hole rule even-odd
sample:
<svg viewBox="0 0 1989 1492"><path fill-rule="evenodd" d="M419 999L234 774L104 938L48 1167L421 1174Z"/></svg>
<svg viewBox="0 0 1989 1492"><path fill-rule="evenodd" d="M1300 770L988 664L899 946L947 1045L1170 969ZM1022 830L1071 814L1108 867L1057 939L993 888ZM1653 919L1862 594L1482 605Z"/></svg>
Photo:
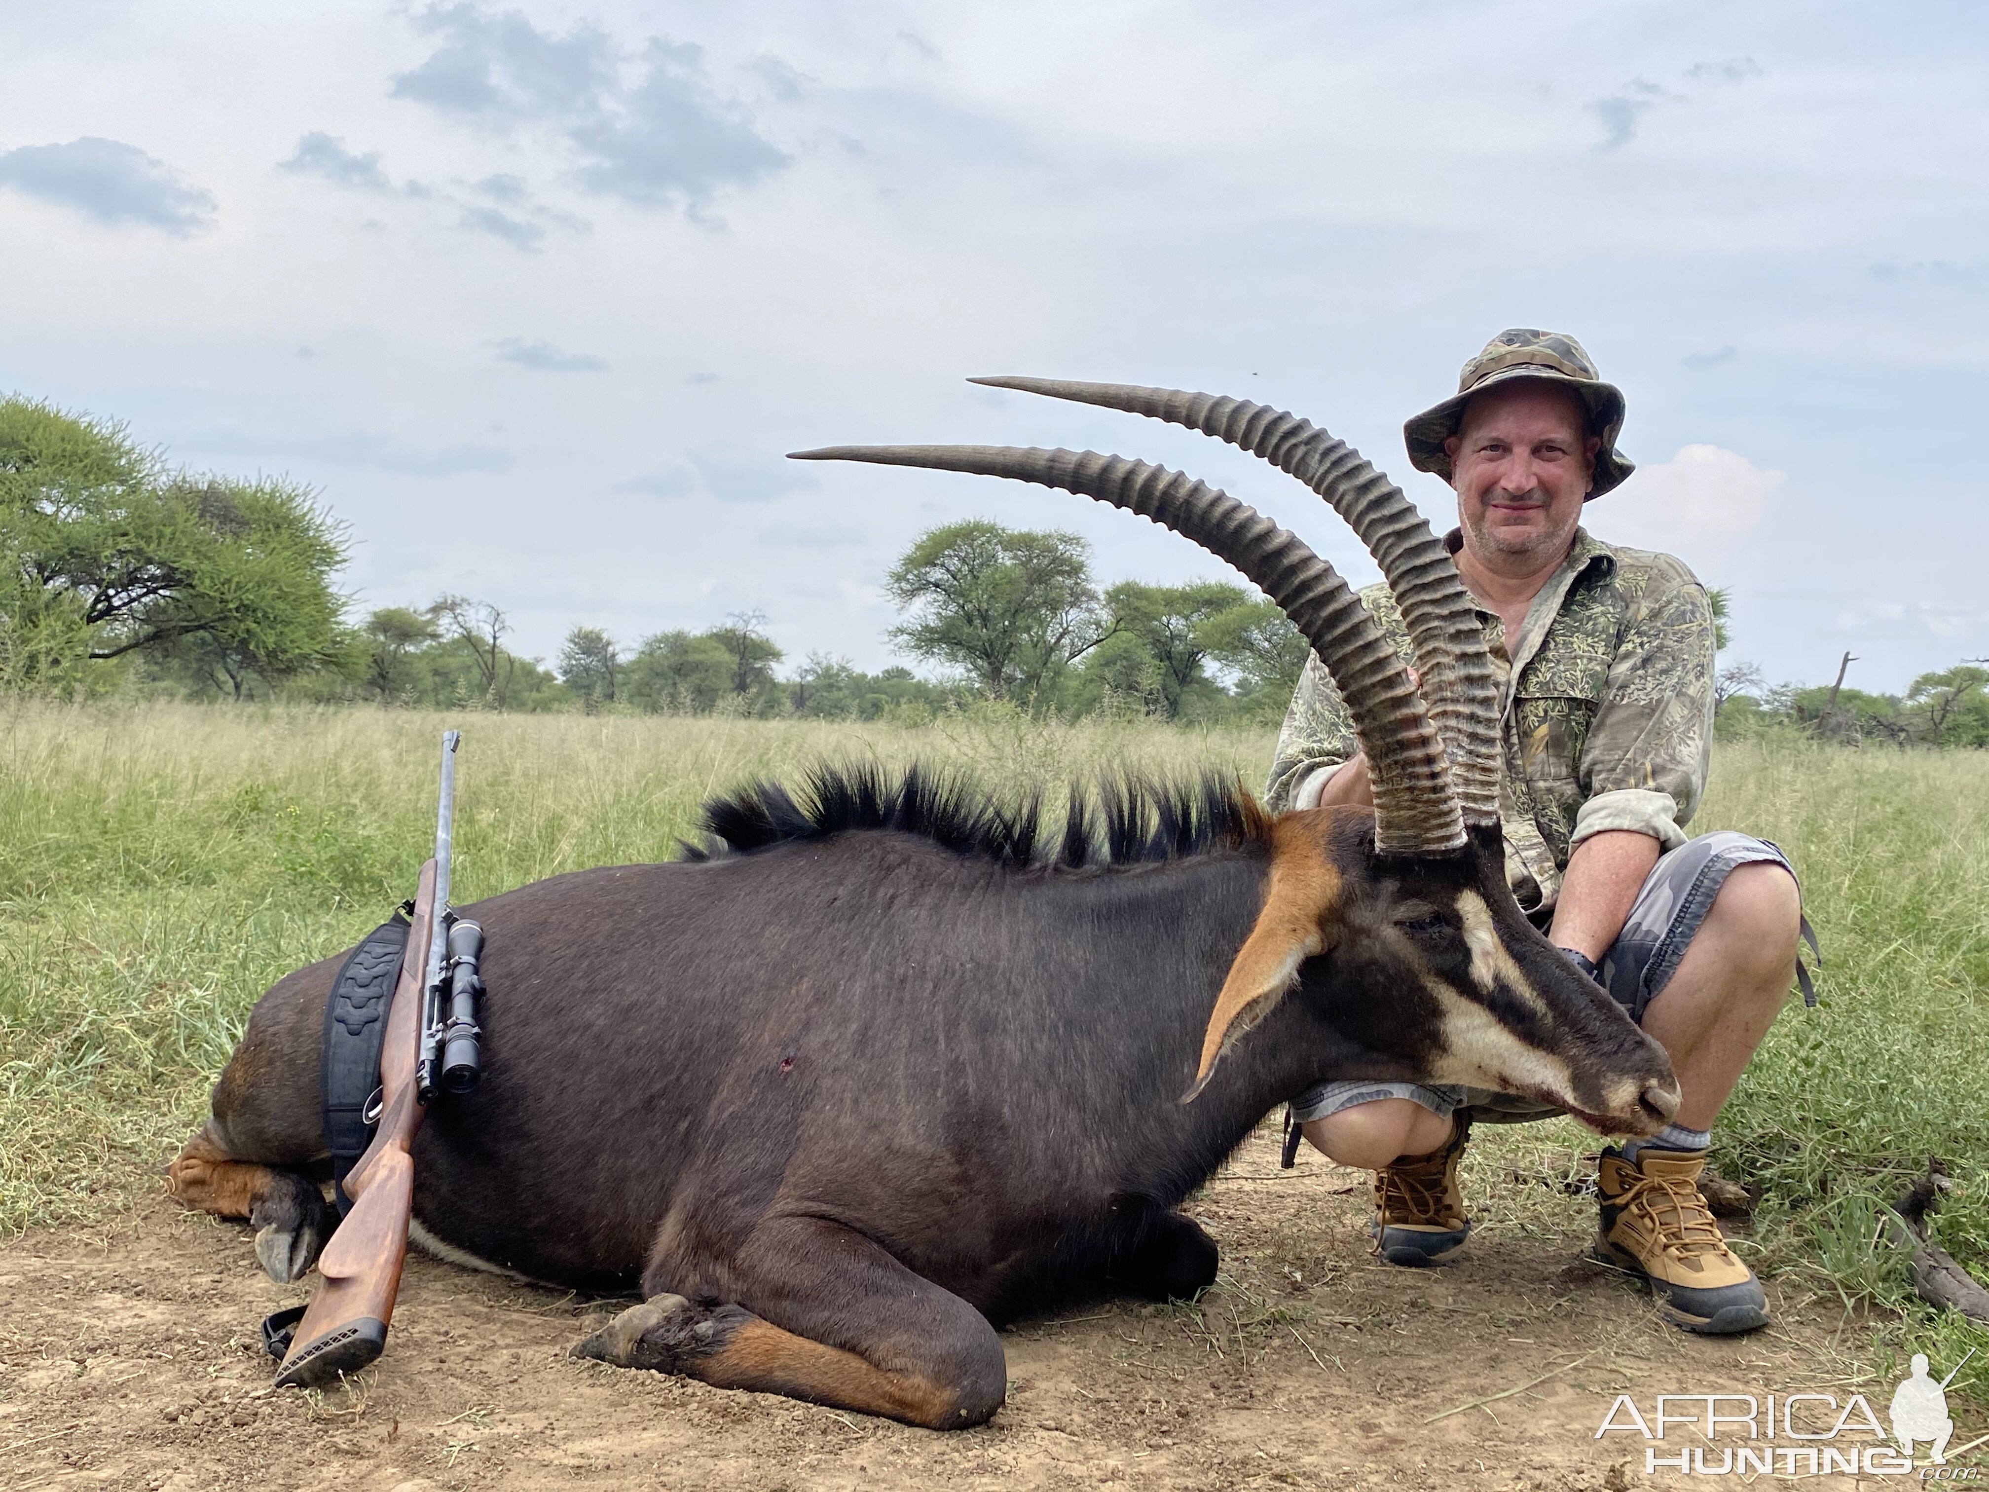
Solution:
<svg viewBox="0 0 1989 1492"><path fill-rule="evenodd" d="M1215 1076L1215 1064L1243 1034L1271 1015L1297 983L1299 965L1327 951L1327 913L1341 897L1341 873L1327 855L1325 814L1287 814L1271 826L1271 881L1201 1038L1201 1066L1181 1094L1191 1104Z"/></svg>

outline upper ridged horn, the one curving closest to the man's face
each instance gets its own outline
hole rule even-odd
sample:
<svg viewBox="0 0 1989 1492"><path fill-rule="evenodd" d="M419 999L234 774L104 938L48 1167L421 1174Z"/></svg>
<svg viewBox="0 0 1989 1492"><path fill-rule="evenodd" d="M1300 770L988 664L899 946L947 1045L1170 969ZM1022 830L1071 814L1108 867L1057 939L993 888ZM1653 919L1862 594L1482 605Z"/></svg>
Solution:
<svg viewBox="0 0 1989 1492"><path fill-rule="evenodd" d="M1199 430L1263 458L1325 497L1374 555L1402 609L1422 670L1422 696L1430 702L1430 718L1442 732L1464 822L1498 824L1504 754L1498 676L1478 617L1472 613L1472 599L1458 579L1450 551L1430 533L1430 525L1402 489L1376 471L1360 452L1319 430L1311 420L1217 394L1140 384L1084 384L1066 378L971 378L969 382L1098 404Z"/></svg>

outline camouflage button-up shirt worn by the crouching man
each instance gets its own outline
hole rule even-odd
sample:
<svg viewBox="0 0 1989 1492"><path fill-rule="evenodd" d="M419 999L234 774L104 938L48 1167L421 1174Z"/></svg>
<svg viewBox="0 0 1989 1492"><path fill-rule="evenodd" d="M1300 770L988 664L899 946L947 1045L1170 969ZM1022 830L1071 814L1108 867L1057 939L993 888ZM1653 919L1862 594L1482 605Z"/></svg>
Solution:
<svg viewBox="0 0 1989 1492"><path fill-rule="evenodd" d="M1444 541L1458 553L1462 537ZM1414 651L1386 585L1360 593L1404 662ZM1508 653L1506 625L1478 607L1500 676L1506 877L1520 905L1553 907L1577 843L1603 830L1685 843L1713 746L1713 607L1671 555L1615 549L1575 529L1567 559L1534 597ZM1358 748L1347 706L1319 666L1291 698L1267 802L1317 800L1321 768ZM1317 776L1315 776L1317 774Z"/></svg>

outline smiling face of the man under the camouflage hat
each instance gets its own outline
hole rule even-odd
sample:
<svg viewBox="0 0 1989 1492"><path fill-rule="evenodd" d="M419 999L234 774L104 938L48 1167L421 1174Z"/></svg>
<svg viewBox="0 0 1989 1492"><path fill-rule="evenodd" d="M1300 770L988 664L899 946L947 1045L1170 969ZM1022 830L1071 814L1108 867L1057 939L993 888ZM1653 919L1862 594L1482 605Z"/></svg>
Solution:
<svg viewBox="0 0 1989 1492"><path fill-rule="evenodd" d="M1464 406L1444 450L1476 559L1504 569L1567 551L1601 450L1577 394L1539 378L1490 388Z"/></svg>

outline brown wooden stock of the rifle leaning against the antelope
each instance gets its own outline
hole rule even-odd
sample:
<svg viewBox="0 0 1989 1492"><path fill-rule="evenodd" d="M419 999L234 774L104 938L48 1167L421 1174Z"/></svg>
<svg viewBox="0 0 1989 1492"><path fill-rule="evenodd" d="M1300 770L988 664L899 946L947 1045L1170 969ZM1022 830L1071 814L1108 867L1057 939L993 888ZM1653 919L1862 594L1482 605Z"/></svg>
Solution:
<svg viewBox="0 0 1989 1492"><path fill-rule="evenodd" d="M394 1319L400 1267L408 1259L414 1217L414 1158L410 1150L428 1112L416 1092L422 1046L428 945L436 937L436 861L422 865L422 885L408 927L408 953L394 983L380 1048L380 1128L346 1176L352 1212L318 1255L324 1283L296 1323L290 1351L276 1369L276 1387L314 1389L358 1373L380 1357Z"/></svg>

